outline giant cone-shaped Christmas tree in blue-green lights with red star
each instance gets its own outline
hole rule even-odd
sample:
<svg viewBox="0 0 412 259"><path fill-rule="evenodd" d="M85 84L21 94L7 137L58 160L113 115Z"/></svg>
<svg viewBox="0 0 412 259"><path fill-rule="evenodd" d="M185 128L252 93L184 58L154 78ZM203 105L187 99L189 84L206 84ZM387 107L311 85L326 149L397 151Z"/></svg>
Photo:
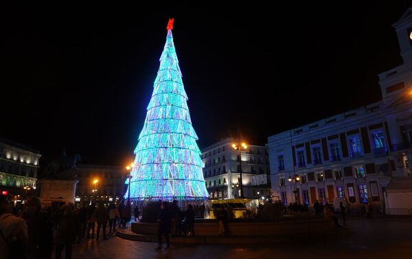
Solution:
<svg viewBox="0 0 412 259"><path fill-rule="evenodd" d="M128 186L133 199L191 200L208 196L172 27L170 19L152 98L135 149L135 167Z"/></svg>

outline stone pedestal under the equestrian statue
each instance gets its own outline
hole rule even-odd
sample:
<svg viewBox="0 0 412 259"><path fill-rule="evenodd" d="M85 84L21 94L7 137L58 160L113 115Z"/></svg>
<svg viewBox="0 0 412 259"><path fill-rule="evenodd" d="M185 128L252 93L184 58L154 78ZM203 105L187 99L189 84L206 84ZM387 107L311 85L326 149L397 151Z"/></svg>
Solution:
<svg viewBox="0 0 412 259"><path fill-rule="evenodd" d="M74 203L77 180L41 180L40 199L43 204L53 202Z"/></svg>

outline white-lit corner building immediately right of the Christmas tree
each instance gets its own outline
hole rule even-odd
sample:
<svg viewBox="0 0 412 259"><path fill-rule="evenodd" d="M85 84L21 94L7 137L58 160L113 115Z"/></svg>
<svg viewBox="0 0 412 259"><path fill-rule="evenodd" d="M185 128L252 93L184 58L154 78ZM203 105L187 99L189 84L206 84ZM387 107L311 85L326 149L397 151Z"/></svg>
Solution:
<svg viewBox="0 0 412 259"><path fill-rule="evenodd" d="M247 145L239 151L232 148L236 139L225 138L203 148L205 164L203 177L209 199L234 199L240 197L240 159L244 198L271 199L268 152L265 146Z"/></svg>

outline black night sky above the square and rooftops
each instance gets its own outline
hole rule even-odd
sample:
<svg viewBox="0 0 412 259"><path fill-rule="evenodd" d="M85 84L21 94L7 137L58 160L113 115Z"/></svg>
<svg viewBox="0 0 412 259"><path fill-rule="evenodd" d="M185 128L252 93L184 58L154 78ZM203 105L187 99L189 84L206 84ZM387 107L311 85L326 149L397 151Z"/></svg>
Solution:
<svg viewBox="0 0 412 259"><path fill-rule="evenodd" d="M391 24L408 1L306 5L21 5L1 8L0 137L85 164L133 157L174 17L201 148L250 144L380 100L402 63ZM97 2L98 3L98 2Z"/></svg>

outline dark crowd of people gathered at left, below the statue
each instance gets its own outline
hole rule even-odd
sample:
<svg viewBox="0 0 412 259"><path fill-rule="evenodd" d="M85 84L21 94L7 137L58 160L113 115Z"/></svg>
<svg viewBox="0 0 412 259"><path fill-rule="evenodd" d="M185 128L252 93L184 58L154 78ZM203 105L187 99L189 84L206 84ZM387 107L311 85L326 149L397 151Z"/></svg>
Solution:
<svg viewBox="0 0 412 259"><path fill-rule="evenodd" d="M134 214L138 218L138 209ZM63 251L69 259L73 244L84 238L107 240L107 225L108 234L113 234L116 227L126 227L130 219L128 203L42 207L38 197L28 196L23 207L12 207L8 196L0 196L0 255L11 259L49 259L55 249L56 259L61 258Z"/></svg>

